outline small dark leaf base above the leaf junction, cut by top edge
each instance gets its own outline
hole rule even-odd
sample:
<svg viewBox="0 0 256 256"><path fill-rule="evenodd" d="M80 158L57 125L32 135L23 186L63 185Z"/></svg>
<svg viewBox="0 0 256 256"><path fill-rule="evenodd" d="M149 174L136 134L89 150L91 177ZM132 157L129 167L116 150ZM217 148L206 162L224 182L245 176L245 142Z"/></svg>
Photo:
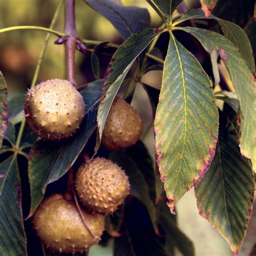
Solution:
<svg viewBox="0 0 256 256"><path fill-rule="evenodd" d="M158 8L167 22L171 21L172 13L182 0L147 0L153 8Z"/></svg>

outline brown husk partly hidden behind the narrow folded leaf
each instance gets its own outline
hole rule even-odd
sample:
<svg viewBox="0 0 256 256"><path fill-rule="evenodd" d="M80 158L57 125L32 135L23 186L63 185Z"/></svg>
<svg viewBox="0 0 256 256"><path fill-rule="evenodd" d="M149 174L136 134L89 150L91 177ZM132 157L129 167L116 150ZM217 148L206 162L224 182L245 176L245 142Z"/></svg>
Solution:
<svg viewBox="0 0 256 256"><path fill-rule="evenodd" d="M102 134L102 144L110 151L130 147L143 132L142 119L125 100L116 97L113 101Z"/></svg>

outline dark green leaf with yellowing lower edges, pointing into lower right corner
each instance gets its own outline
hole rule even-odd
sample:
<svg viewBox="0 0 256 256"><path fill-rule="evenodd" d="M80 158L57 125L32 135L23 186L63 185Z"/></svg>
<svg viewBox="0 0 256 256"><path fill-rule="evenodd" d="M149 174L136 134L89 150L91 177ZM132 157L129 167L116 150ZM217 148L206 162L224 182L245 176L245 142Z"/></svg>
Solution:
<svg viewBox="0 0 256 256"><path fill-rule="evenodd" d="M225 237L237 255L252 213L254 178L240 153L239 137L225 113L220 112L219 141L205 177L196 187L200 215Z"/></svg>

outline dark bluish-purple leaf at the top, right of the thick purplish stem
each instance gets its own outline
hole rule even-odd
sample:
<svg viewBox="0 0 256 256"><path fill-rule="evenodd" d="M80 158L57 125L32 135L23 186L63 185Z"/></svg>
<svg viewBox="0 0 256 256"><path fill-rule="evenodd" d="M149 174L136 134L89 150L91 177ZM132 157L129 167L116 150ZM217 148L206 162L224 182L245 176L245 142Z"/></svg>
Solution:
<svg viewBox="0 0 256 256"><path fill-rule="evenodd" d="M109 20L124 39L132 33L150 27L150 14L147 9L124 6L120 0L84 0L84 2Z"/></svg>

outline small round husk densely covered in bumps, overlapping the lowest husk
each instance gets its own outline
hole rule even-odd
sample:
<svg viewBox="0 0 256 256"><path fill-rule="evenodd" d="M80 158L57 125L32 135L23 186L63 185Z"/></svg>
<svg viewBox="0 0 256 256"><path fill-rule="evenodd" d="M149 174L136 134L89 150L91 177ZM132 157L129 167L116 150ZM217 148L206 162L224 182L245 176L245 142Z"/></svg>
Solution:
<svg viewBox="0 0 256 256"><path fill-rule="evenodd" d="M76 190L90 211L112 214L130 191L128 177L119 166L104 158L81 165L76 174Z"/></svg>

